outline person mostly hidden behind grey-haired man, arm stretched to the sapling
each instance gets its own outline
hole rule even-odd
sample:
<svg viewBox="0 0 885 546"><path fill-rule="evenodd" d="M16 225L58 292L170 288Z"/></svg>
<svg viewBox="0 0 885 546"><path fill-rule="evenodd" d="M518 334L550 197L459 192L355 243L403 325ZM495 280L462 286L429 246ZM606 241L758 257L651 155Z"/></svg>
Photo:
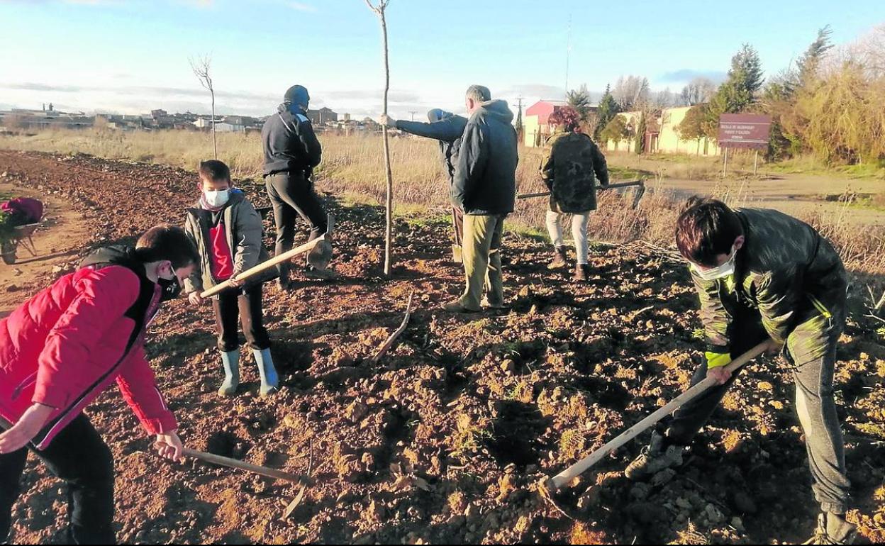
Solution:
<svg viewBox="0 0 885 546"><path fill-rule="evenodd" d="M467 119L440 108L434 108L427 112L428 123L421 121L406 121L393 119L382 115L381 125L396 127L400 131L410 135L433 138L440 143L440 155L443 158L443 166L449 177L449 184L455 177L455 163L458 161L458 147L461 145L461 135L467 127ZM464 232L464 211L456 206L451 209L451 223L455 232L455 242L451 245L452 261L461 263L461 235Z"/></svg>

